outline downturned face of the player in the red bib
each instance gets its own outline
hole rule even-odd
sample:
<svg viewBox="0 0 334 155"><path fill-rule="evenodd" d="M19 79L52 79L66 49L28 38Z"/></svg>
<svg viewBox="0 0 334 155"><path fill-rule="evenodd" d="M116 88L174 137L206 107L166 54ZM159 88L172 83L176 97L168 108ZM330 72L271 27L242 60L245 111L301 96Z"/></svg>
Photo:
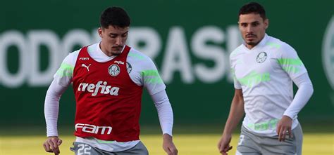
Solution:
<svg viewBox="0 0 334 155"><path fill-rule="evenodd" d="M101 50L106 55L120 55L128 39L129 27L117 27L109 25L108 28L99 28L99 36L101 37Z"/></svg>

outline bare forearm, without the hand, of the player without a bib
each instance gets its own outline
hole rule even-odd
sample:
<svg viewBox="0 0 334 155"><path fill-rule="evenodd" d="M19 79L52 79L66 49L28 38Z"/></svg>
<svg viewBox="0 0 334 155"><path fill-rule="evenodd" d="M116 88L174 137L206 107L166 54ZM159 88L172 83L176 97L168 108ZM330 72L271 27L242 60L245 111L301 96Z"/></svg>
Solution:
<svg viewBox="0 0 334 155"><path fill-rule="evenodd" d="M230 108L230 114L228 115L228 120L225 123L224 133L232 134L233 130L237 127L244 116L244 101L240 97L233 97L233 101Z"/></svg>

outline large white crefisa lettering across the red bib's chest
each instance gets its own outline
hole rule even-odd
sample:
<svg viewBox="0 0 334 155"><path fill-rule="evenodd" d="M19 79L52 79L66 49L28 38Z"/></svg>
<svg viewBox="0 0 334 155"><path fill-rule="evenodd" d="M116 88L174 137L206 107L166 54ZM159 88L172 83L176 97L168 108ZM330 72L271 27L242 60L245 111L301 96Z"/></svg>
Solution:
<svg viewBox="0 0 334 155"><path fill-rule="evenodd" d="M97 84L80 83L78 86L78 91L90 92L92 93L92 96L96 96L97 93L117 96L118 90L120 90L120 88L107 86L106 84L106 81L98 81Z"/></svg>

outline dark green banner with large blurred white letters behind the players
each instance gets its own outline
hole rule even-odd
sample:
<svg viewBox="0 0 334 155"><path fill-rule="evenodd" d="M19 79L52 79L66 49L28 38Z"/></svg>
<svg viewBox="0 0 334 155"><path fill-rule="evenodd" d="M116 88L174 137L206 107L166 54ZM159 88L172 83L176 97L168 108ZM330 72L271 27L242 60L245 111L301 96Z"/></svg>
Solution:
<svg viewBox="0 0 334 155"><path fill-rule="evenodd" d="M227 119L234 88L230 52L242 43L237 13L247 1L4 1L0 6L0 125L44 124L44 98L63 58L99 41L99 15L108 6L128 11L128 45L159 69L175 124ZM333 0L259 1L267 34L297 50L314 84L300 121L333 121ZM61 97L59 123L73 123L72 88ZM144 93L142 123L157 123Z"/></svg>

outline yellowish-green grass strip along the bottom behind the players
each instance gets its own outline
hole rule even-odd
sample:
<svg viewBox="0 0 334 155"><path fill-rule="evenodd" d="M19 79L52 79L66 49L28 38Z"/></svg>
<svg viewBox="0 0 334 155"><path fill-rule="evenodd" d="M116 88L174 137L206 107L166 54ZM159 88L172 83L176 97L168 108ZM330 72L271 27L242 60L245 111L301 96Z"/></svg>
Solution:
<svg viewBox="0 0 334 155"><path fill-rule="evenodd" d="M23 133L24 134L24 133ZM218 154L216 144L220 134L175 134L174 142L178 147L180 155L214 155ZM233 145L230 154L235 154L235 147L239 135L233 135L231 144ZM69 150L74 140L73 135L61 137L61 154L73 154ZM39 155L49 154L44 152L42 143L45 136L42 135L1 135L0 137L0 155ZM163 155L161 147L161 135L144 134L141 136L142 142L149 149L151 155ZM330 155L334 154L334 134L333 133L304 133L304 155Z"/></svg>

